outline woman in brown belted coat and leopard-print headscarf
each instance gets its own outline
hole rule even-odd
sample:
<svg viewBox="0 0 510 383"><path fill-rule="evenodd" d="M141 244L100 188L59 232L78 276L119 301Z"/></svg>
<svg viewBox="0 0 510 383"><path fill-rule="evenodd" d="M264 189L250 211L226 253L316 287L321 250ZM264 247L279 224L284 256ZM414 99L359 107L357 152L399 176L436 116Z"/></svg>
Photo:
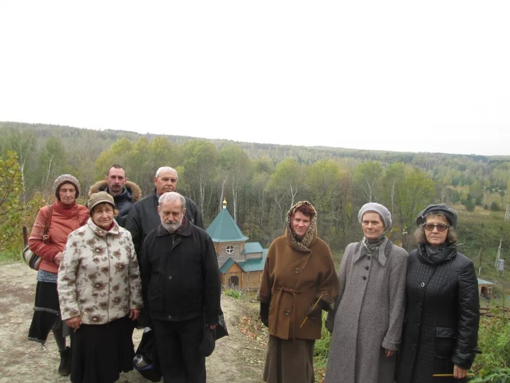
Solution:
<svg viewBox="0 0 510 383"><path fill-rule="evenodd" d="M287 213L285 234L267 252L258 294L269 328L264 381L313 383L313 350L322 309L333 309L338 278L329 247L317 237L317 212L308 201Z"/></svg>

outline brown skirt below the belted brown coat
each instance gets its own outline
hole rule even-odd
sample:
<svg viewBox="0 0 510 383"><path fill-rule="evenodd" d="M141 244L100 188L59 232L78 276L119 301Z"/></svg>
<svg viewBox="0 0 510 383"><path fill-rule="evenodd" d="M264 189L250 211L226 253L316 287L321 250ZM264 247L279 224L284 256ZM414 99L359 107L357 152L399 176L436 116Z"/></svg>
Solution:
<svg viewBox="0 0 510 383"><path fill-rule="evenodd" d="M314 346L310 339L283 340L269 336L264 381L267 383L314 383Z"/></svg>

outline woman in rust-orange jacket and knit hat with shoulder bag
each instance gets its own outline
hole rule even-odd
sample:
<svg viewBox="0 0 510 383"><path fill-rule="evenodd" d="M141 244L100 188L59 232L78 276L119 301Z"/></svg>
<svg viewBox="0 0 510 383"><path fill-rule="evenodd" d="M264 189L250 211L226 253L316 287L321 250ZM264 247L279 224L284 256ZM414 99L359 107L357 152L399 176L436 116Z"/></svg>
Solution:
<svg viewBox="0 0 510 383"><path fill-rule="evenodd" d="M46 343L49 330L53 330L55 343L60 352L58 373L69 375L69 347L66 347L64 325L60 316L57 295L57 272L62 261L62 252L67 235L85 225L89 210L76 203L80 195L80 183L70 174L58 176L53 183L57 200L52 205L39 209L32 232L29 248L41 256L37 272L34 316L29 330L29 340ZM44 235L45 227L48 227Z"/></svg>

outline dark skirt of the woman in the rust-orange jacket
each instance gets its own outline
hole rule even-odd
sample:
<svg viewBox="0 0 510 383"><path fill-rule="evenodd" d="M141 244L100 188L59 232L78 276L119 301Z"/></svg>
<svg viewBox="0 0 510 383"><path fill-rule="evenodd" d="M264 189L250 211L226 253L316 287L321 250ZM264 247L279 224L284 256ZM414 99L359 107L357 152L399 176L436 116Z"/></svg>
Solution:
<svg viewBox="0 0 510 383"><path fill-rule="evenodd" d="M46 343L49 330L62 326L59 312L57 283L37 282L35 291L34 316L30 324L29 340Z"/></svg>

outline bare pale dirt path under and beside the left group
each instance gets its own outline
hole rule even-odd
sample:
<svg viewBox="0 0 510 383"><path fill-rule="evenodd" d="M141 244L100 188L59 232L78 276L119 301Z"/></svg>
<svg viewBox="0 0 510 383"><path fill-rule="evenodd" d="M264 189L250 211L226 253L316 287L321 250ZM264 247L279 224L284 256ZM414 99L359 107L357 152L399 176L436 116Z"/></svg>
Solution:
<svg viewBox="0 0 510 383"><path fill-rule="evenodd" d="M0 383L68 382L57 374L59 354L52 334L45 348L27 340L35 299L36 273L23 264L0 265ZM265 349L238 329L241 321L239 301L221 297L229 337L216 343L207 358L210 383L252 383L262 381ZM138 344L142 330L135 330ZM121 374L121 383L147 382L137 371Z"/></svg>

